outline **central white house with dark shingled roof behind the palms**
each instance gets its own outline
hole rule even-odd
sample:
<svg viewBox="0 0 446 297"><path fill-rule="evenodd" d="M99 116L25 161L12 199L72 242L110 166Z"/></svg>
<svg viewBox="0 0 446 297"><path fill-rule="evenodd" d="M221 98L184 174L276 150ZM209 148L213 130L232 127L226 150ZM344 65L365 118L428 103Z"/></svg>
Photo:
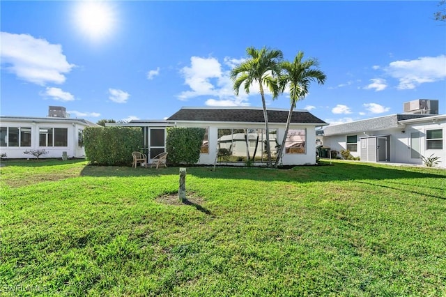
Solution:
<svg viewBox="0 0 446 297"><path fill-rule="evenodd" d="M268 109L270 148L276 158L282 142L288 110ZM148 158L165 151L167 127L205 128L199 165L215 162L244 165L253 158L257 165L267 162L266 131L263 109L256 107L183 107L165 121L132 120L129 123L107 123L141 127L144 152ZM306 110L293 112L282 165L314 165L316 163L316 127L328 125Z"/></svg>

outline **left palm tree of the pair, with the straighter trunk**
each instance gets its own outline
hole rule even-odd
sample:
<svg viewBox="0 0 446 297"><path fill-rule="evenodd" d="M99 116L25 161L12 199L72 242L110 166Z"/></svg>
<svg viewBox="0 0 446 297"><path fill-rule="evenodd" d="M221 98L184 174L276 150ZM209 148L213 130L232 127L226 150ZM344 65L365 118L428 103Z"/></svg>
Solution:
<svg viewBox="0 0 446 297"><path fill-rule="evenodd" d="M246 49L248 59L234 67L231 71L233 89L238 96L240 86L249 94L249 87L257 82L262 98L263 117L266 129L266 151L268 153L268 167L271 167L270 135L268 127L268 114L266 111L265 93L263 86L266 86L272 93L272 98L279 95L279 85L277 77L280 75L279 62L282 61L283 54L280 50L270 50L262 47L257 50L254 47Z"/></svg>

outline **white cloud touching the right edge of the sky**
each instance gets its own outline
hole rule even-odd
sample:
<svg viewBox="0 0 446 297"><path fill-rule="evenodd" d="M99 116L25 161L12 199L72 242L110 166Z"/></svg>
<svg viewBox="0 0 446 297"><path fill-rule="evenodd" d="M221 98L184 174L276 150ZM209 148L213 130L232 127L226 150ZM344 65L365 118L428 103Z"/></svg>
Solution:
<svg viewBox="0 0 446 297"><path fill-rule="evenodd" d="M394 61L385 68L391 77L399 79L398 89L415 89L426 82L446 78L446 55L424 56L411 61Z"/></svg>

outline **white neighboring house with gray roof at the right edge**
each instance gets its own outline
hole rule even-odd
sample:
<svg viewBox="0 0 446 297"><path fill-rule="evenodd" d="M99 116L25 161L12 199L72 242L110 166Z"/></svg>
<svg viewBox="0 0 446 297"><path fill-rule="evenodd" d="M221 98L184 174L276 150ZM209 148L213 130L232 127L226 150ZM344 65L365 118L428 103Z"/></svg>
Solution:
<svg viewBox="0 0 446 297"><path fill-rule="evenodd" d="M440 157L446 167L446 115L392 114L374 119L329 125L323 145L348 149L369 162L422 164L421 156Z"/></svg>

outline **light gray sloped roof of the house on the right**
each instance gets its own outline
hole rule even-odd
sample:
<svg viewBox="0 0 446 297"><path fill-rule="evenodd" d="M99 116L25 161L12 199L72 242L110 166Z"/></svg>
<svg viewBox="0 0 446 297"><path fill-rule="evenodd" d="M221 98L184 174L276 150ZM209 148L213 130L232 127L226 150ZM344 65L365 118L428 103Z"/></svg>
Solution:
<svg viewBox="0 0 446 297"><path fill-rule="evenodd" d="M409 119L417 119L425 116L433 116L433 114L392 114L390 116L380 116L373 119L365 119L350 123L342 123L339 125L329 125L323 130L323 135L339 135L355 132L385 130L389 128L397 128L398 122Z"/></svg>

